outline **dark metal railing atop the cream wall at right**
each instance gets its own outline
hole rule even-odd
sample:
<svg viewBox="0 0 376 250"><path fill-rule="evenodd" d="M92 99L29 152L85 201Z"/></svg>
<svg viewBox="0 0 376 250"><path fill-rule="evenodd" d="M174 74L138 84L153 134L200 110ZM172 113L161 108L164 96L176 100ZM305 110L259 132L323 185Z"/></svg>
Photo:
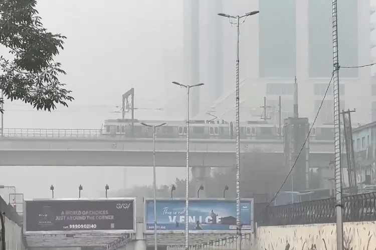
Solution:
<svg viewBox="0 0 376 250"><path fill-rule="evenodd" d="M376 192L343 197L343 221L376 220L375 200ZM335 217L335 198L269 206L262 213L255 213L258 225L334 223Z"/></svg>

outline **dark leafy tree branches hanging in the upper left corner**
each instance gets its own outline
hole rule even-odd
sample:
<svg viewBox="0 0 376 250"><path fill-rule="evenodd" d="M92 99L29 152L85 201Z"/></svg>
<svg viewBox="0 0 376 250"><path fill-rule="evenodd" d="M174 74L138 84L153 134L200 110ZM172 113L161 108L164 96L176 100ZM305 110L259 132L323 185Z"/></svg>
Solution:
<svg viewBox="0 0 376 250"><path fill-rule="evenodd" d="M0 44L13 57L0 56L0 89L11 100L51 111L74 99L58 78L66 72L54 61L66 37L43 27L36 4L37 0L0 0Z"/></svg>

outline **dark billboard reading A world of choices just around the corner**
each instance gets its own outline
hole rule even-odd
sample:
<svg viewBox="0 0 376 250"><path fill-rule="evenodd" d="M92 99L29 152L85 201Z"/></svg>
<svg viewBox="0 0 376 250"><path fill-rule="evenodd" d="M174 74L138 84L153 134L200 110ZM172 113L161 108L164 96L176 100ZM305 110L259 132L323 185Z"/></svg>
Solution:
<svg viewBox="0 0 376 250"><path fill-rule="evenodd" d="M29 233L135 232L135 199L25 200L24 231Z"/></svg>

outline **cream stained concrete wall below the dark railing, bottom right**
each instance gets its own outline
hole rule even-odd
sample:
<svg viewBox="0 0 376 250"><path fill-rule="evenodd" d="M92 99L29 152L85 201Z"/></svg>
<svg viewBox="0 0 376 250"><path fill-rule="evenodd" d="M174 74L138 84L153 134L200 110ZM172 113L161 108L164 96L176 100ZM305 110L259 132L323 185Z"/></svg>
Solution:
<svg viewBox="0 0 376 250"><path fill-rule="evenodd" d="M376 223L344 223L345 250L376 249ZM265 226L256 231L257 249L336 249L335 224Z"/></svg>

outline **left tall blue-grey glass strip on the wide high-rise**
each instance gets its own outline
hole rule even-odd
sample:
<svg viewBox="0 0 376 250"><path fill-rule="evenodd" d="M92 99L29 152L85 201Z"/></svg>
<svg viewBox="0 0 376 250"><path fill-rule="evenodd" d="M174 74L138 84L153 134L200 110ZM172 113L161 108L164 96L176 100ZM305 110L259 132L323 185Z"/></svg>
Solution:
<svg viewBox="0 0 376 250"><path fill-rule="evenodd" d="M296 74L296 0L259 0L259 75Z"/></svg>

